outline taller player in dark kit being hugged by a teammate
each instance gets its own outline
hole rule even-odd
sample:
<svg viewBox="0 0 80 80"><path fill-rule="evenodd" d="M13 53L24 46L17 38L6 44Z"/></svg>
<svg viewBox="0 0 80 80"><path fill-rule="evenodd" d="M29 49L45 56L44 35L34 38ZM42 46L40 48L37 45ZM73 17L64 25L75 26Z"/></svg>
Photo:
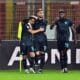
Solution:
<svg viewBox="0 0 80 80"><path fill-rule="evenodd" d="M38 71L41 72L45 64L45 52L47 52L47 37L45 33L47 20L44 19L44 13L42 9L38 9L36 11L36 16L38 17L38 19L33 26L34 30L44 28L44 31L38 32L34 35L34 46L36 51L35 62L36 66L39 66ZM38 64L39 59L40 65Z"/></svg>

